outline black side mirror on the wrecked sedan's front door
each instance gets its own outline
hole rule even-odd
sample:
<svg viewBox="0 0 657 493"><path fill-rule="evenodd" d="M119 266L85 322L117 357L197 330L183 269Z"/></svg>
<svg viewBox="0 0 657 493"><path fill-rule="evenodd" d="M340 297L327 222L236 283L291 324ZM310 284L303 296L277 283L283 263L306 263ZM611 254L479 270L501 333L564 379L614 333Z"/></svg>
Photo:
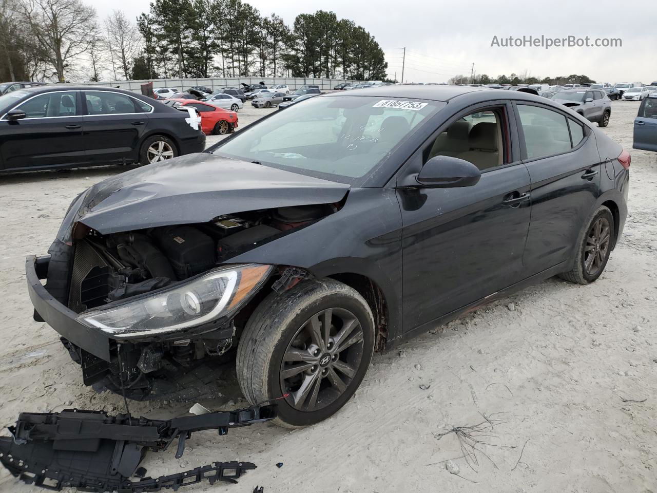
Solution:
<svg viewBox="0 0 657 493"><path fill-rule="evenodd" d="M424 188L472 187L482 172L469 161L452 156L434 156L428 160L415 181Z"/></svg>

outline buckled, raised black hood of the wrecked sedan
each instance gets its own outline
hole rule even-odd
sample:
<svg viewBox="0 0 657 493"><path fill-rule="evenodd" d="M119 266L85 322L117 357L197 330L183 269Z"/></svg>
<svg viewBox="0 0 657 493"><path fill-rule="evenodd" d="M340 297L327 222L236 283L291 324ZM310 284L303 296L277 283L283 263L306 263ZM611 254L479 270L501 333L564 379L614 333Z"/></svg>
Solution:
<svg viewBox="0 0 657 493"><path fill-rule="evenodd" d="M249 210L340 202L349 185L252 162L188 154L108 178L74 200L58 237L74 222L101 234L207 222ZM68 238L67 238L68 237Z"/></svg>

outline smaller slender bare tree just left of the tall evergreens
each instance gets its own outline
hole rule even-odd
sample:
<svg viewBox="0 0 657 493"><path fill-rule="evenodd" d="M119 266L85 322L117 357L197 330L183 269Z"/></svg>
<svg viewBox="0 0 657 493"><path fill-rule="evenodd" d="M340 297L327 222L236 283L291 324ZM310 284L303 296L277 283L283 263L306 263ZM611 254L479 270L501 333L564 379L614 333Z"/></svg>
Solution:
<svg viewBox="0 0 657 493"><path fill-rule="evenodd" d="M132 60L141 48L141 35L137 26L127 19L124 12L114 11L105 19L105 36L112 67L118 66L125 80L128 80ZM116 70L114 74L116 79Z"/></svg>

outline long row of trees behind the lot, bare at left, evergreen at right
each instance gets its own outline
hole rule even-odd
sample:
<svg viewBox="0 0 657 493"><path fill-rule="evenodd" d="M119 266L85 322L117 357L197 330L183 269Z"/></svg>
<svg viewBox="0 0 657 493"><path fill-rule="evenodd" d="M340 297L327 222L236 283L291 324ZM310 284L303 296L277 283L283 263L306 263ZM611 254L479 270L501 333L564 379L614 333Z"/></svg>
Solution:
<svg viewBox="0 0 657 493"><path fill-rule="evenodd" d="M365 28L334 12L292 26L241 0L154 0L135 22L81 0L0 0L0 79L316 77L384 80Z"/></svg>

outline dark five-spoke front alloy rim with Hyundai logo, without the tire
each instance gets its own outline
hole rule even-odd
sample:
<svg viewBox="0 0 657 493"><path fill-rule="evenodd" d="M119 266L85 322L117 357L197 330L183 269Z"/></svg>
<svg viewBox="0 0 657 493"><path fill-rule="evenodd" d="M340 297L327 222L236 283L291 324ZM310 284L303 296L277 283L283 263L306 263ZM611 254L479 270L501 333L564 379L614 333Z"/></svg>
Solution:
<svg viewBox="0 0 657 493"><path fill-rule="evenodd" d="M363 359L363 327L349 310L327 308L310 317L288 344L281 388L292 408L317 411L349 387Z"/></svg>

